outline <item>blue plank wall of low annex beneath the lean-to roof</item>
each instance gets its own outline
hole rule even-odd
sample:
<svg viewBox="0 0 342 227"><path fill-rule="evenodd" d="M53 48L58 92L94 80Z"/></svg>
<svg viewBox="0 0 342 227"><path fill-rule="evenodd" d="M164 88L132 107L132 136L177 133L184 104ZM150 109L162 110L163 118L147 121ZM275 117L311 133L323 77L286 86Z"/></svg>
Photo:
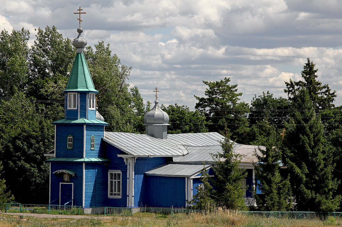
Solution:
<svg viewBox="0 0 342 227"><path fill-rule="evenodd" d="M144 204L152 207L185 207L185 179L146 176L149 194Z"/></svg>

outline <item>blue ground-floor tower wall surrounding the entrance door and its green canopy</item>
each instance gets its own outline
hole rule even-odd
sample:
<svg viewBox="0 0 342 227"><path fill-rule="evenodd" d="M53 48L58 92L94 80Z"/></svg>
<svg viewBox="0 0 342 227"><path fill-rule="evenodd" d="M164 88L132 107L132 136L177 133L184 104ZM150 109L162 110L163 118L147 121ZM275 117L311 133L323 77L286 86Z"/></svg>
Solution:
<svg viewBox="0 0 342 227"><path fill-rule="evenodd" d="M70 177L70 183L74 183L74 205L82 206L82 163L51 163L51 201L60 197L60 183L63 182L63 177L57 177L53 174L54 171L59 169L70 169L76 173L75 177ZM59 201L56 201L54 204L58 205Z"/></svg>

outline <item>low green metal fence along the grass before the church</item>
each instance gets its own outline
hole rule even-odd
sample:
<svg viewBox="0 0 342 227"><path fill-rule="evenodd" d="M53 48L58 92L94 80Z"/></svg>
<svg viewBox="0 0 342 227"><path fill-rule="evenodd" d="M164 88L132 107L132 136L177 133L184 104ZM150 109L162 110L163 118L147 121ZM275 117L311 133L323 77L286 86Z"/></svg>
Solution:
<svg viewBox="0 0 342 227"><path fill-rule="evenodd" d="M31 214L58 214L58 215L98 215L98 216L132 216L132 217L180 217L193 213L202 213L200 210L178 208L153 208L153 207L83 207L67 205L35 205L21 204L17 202L0 203L1 212L5 213L31 213ZM248 216L292 218L292 219L327 219L329 217L342 218L342 212L260 212L239 211L238 213Z"/></svg>

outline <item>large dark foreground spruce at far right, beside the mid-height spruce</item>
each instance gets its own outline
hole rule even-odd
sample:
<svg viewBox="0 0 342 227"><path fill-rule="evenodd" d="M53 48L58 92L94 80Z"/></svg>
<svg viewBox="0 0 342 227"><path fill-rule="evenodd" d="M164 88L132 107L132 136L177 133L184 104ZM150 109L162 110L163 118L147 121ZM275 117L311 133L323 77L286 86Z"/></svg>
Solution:
<svg viewBox="0 0 342 227"><path fill-rule="evenodd" d="M293 110L281 150L291 178L298 211L335 211L341 196L333 197L338 182L333 179L332 151L323 138L320 114L314 111L309 91L300 89L292 97Z"/></svg>

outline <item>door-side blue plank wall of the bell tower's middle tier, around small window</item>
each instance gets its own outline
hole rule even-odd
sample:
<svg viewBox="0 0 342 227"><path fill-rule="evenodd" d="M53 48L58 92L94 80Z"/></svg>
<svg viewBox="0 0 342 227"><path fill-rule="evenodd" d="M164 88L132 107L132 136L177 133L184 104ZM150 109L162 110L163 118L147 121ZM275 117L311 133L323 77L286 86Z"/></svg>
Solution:
<svg viewBox="0 0 342 227"><path fill-rule="evenodd" d="M69 135L73 149L67 149ZM56 157L83 157L83 125L56 125Z"/></svg>

